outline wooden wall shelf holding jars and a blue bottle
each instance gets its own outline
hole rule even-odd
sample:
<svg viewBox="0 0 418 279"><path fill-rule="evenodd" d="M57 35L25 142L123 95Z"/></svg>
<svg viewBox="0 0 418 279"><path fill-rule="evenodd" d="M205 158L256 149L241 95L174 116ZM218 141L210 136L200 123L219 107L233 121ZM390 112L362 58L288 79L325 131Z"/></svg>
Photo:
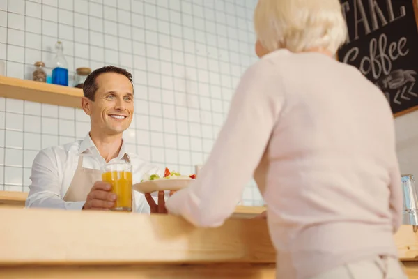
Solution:
<svg viewBox="0 0 418 279"><path fill-rule="evenodd" d="M0 75L0 97L64 107L81 107L82 96L82 89Z"/></svg>

